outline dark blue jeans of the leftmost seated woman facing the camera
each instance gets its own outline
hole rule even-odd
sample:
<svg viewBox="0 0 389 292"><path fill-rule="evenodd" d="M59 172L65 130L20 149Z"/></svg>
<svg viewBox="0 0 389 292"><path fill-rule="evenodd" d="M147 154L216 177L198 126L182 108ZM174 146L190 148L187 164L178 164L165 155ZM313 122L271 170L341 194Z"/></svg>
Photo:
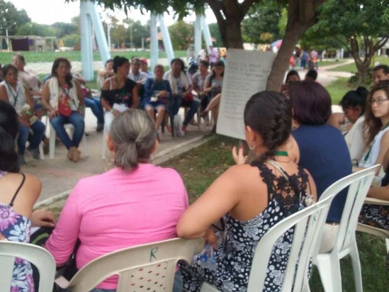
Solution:
<svg viewBox="0 0 389 292"><path fill-rule="evenodd" d="M38 148L40 141L42 141L43 136L45 135L46 127L41 121L37 120L34 124L31 125L31 129L33 130L33 134L29 140L30 148L36 149ZM27 128L22 123L19 123L19 136L17 140L18 154L23 155L26 151L26 142L29 135L30 128Z"/></svg>

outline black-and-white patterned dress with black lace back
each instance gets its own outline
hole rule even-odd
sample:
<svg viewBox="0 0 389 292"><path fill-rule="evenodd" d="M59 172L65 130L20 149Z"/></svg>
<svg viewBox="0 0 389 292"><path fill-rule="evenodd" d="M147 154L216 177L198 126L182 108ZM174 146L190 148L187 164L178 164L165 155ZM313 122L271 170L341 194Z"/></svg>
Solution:
<svg viewBox="0 0 389 292"><path fill-rule="evenodd" d="M288 183L283 176L276 177L265 164L251 165L259 168L267 185L267 207L248 221L236 220L229 213L223 217L227 236L215 252L216 270L201 267L200 255L194 257L190 266L180 262L184 291L200 291L202 282L207 281L220 291L246 292L258 242L273 225L305 207L308 175L302 167L299 166L298 173L289 177ZM303 194L301 197L296 194L296 189ZM293 232L292 228L284 233L273 247L263 291L280 291Z"/></svg>

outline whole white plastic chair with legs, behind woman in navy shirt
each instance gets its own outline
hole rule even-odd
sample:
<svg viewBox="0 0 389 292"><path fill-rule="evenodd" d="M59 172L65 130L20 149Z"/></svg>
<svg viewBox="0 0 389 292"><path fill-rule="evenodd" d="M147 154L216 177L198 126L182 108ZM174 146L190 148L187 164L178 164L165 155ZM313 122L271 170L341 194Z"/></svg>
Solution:
<svg viewBox="0 0 389 292"><path fill-rule="evenodd" d="M347 255L350 255L353 264L355 291L363 291L361 264L355 240L355 229L363 201L368 193L375 171L380 166L380 164L371 166L340 180L345 183L342 189L349 186L349 191L343 209L343 215L338 226L335 246L328 253L319 253L314 260L314 264L318 266L321 282L326 292L342 291L340 259ZM334 184L329 188L333 186ZM321 195L319 201L326 200L328 195L330 194L326 190Z"/></svg>

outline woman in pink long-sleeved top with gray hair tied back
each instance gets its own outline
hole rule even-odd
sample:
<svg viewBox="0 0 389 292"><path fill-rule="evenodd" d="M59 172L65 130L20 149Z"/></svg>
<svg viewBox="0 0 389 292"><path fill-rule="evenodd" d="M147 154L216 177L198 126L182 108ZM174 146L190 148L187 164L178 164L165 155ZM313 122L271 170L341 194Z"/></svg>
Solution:
<svg viewBox="0 0 389 292"><path fill-rule="evenodd" d="M58 266L67 261L77 238L80 269L112 251L177 237L188 196L177 171L149 163L158 146L154 122L142 110L125 110L113 120L106 141L116 167L77 183L46 242ZM175 292L181 291L180 275L176 278ZM116 287L113 276L92 291Z"/></svg>

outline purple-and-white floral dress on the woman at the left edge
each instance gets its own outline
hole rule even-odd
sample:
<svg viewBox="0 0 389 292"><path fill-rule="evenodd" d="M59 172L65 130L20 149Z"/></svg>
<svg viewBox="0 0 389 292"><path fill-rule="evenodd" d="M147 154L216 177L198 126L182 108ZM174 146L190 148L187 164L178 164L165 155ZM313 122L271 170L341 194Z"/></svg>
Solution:
<svg viewBox="0 0 389 292"><path fill-rule="evenodd" d="M6 172L0 170L0 179ZM24 175L23 175L24 176ZM24 179L23 179L24 182ZM29 242L31 220L16 213L13 208L15 194L9 205L0 202L0 233L9 241ZM34 292L34 280L31 264L21 258L15 258L12 274L11 292Z"/></svg>

